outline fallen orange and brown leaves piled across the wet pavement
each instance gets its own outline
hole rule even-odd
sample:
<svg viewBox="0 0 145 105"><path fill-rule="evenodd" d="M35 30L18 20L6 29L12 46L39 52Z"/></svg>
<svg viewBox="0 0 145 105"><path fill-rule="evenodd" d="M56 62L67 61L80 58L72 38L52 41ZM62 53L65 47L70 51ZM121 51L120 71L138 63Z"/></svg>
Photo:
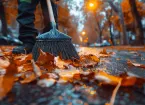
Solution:
<svg viewBox="0 0 145 105"><path fill-rule="evenodd" d="M87 81L95 82L100 86L115 86L110 102L106 103L106 105L113 105L120 86L142 87L145 83L144 78L130 73L113 76L102 70L96 70L101 57L110 57L113 54L107 53L105 49L100 52L99 57L87 54L80 55L80 59L74 60L63 60L40 50L36 62L32 54L13 55L10 49L12 48L0 49L0 99L10 92L15 82L26 84L36 81L36 84L41 87L51 87L57 83L75 84Z"/></svg>

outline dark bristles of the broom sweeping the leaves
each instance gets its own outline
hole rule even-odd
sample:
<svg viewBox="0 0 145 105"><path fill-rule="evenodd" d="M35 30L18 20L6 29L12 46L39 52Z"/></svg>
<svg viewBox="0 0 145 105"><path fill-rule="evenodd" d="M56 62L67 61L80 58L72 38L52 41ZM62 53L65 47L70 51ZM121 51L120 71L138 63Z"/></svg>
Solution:
<svg viewBox="0 0 145 105"><path fill-rule="evenodd" d="M39 49L49 52L54 56L61 55L62 59L79 59L77 51L71 40L64 41L37 41L33 48L33 58L36 61L39 57Z"/></svg>

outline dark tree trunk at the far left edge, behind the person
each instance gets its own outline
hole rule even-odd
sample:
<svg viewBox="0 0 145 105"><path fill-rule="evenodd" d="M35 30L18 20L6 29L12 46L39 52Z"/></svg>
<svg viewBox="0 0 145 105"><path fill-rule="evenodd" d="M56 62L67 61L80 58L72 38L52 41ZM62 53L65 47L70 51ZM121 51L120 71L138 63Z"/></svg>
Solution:
<svg viewBox="0 0 145 105"><path fill-rule="evenodd" d="M2 34L7 36L7 22L5 17L5 11L2 1L0 1L0 19L2 21Z"/></svg>

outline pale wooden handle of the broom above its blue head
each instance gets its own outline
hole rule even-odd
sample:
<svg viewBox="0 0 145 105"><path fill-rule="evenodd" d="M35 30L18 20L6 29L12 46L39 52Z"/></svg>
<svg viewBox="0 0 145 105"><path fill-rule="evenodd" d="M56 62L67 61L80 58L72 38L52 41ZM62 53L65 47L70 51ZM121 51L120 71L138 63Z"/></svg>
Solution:
<svg viewBox="0 0 145 105"><path fill-rule="evenodd" d="M51 5L51 1L50 0L46 0L46 2L47 2L48 14L49 14L50 22L56 24L55 19L54 19L54 14L53 14L53 9L52 9L52 5Z"/></svg>

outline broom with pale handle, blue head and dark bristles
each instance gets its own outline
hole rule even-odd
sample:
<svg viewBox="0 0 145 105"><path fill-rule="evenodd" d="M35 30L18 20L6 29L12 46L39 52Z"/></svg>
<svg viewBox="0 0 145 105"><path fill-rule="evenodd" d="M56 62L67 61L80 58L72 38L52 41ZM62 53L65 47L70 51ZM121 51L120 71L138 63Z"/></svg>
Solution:
<svg viewBox="0 0 145 105"><path fill-rule="evenodd" d="M59 32L56 29L56 22L52 10L50 0L47 1L50 25L52 29L49 32L36 37L36 43L33 47L32 54L33 59L36 61L40 55L40 50L49 52L54 56L61 56L62 59L79 59L77 51L71 42L71 37Z"/></svg>

